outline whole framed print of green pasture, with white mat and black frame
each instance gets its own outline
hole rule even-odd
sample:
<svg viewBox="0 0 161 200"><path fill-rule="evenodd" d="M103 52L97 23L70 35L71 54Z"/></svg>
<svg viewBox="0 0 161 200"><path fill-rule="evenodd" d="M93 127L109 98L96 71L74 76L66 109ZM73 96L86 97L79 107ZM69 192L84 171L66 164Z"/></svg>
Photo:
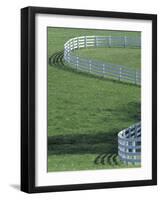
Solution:
<svg viewBox="0 0 161 200"><path fill-rule="evenodd" d="M157 16L21 10L21 190L157 184Z"/></svg>

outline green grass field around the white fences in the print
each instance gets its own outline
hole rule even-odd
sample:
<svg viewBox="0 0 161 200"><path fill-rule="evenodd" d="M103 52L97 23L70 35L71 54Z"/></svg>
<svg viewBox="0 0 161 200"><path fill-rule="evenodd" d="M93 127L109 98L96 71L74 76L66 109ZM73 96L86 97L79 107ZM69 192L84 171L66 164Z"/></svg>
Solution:
<svg viewBox="0 0 161 200"><path fill-rule="evenodd" d="M72 37L125 34L140 33L48 28L48 57ZM98 50L85 51L79 53L99 60ZM101 59L106 61L105 54ZM113 56L110 62L120 60ZM137 63L140 57L132 56L129 66ZM140 87L78 73L61 63L48 65L48 171L134 167L118 160L117 133L139 120Z"/></svg>

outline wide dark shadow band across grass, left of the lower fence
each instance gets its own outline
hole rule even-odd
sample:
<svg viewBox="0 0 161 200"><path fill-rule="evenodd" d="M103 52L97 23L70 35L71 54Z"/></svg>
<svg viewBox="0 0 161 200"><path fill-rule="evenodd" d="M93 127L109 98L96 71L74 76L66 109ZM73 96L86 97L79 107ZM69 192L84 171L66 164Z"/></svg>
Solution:
<svg viewBox="0 0 161 200"><path fill-rule="evenodd" d="M48 137L48 155L117 153L114 133L67 134Z"/></svg>

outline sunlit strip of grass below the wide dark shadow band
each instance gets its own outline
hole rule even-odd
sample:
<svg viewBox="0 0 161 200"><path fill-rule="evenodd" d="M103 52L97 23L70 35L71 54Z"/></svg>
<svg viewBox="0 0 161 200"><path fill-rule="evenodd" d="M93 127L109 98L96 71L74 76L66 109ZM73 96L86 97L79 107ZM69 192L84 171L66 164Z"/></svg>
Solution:
<svg viewBox="0 0 161 200"><path fill-rule="evenodd" d="M108 154L110 156L110 154ZM114 159L111 158L111 160L107 161L108 156L105 154L102 154L105 156L103 159L98 159L98 163L95 163L96 158L98 157L98 154L71 154L70 156L68 154L64 155L51 155L48 159L48 165L49 165L49 172L52 171L70 171L70 170L94 170L94 169L119 169L119 168L133 168L134 165L125 165L121 163L118 158L116 157L116 154L113 155ZM70 163L69 163L70 159ZM118 160L118 161L117 161ZM138 165L135 165L135 167L139 167ZM54 170L53 170L54 169Z"/></svg>

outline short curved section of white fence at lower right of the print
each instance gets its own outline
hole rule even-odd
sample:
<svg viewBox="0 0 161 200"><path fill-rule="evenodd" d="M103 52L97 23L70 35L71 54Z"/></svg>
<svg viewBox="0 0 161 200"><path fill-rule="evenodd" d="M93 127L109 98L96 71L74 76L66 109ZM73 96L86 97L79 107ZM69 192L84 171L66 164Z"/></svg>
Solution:
<svg viewBox="0 0 161 200"><path fill-rule="evenodd" d="M137 123L118 133L118 155L126 163L141 163L141 124Z"/></svg>

